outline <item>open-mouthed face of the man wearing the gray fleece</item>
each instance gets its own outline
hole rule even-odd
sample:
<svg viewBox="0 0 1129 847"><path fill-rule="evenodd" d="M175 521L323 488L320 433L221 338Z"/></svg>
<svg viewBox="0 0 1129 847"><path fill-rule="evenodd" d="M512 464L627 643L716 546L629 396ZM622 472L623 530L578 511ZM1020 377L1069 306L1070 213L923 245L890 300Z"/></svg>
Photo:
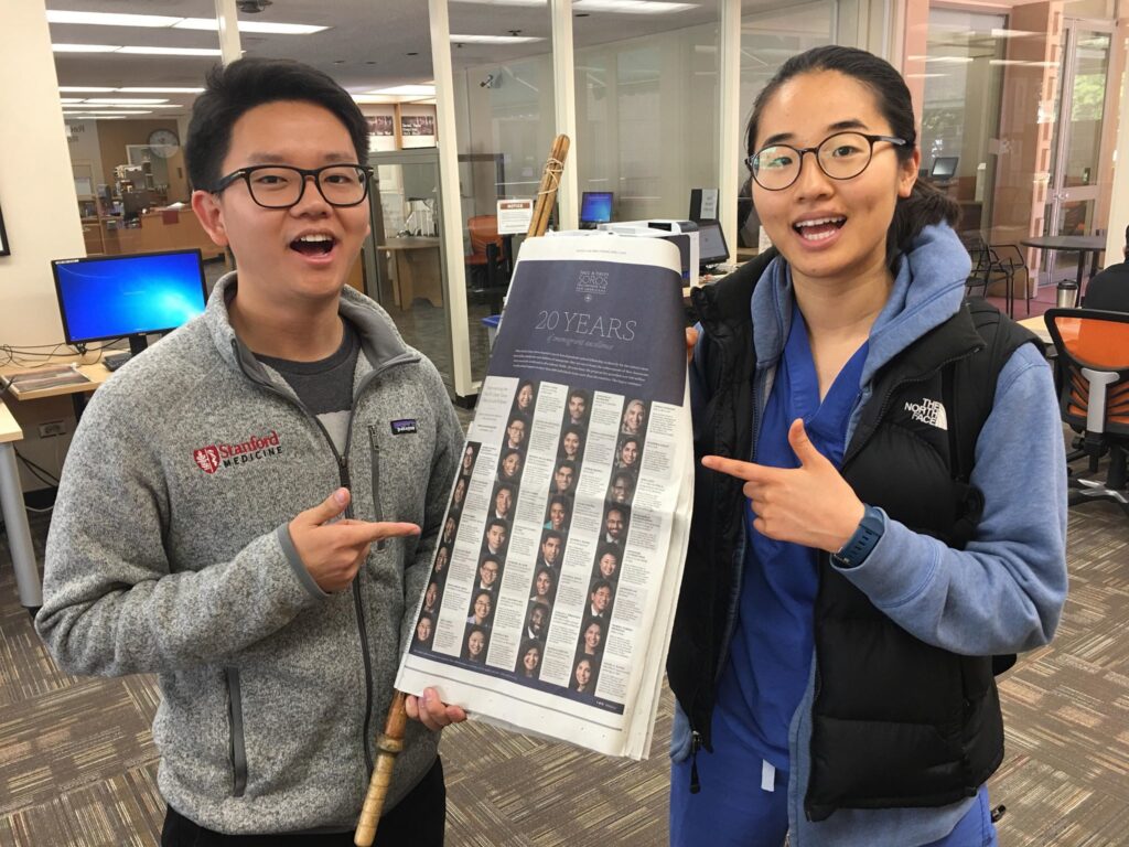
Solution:
<svg viewBox="0 0 1129 847"><path fill-rule="evenodd" d="M332 112L282 101L255 106L235 122L220 174L252 165L356 163L349 131ZM259 206L243 180L218 195L194 191L192 208L211 239L231 247L239 265L239 297L255 305L303 309L336 299L368 235L368 203L330 206L312 178L289 209Z"/></svg>

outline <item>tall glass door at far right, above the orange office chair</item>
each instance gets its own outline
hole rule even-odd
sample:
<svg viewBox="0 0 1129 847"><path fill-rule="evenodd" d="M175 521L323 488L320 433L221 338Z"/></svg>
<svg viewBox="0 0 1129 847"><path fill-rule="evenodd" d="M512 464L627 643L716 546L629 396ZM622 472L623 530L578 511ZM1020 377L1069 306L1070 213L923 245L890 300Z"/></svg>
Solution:
<svg viewBox="0 0 1129 847"><path fill-rule="evenodd" d="M1109 90L1112 28L1102 24L1068 20L1062 54L1053 161L1048 192L1048 235L1094 235L1105 224L1099 220L1099 194L1108 186L1102 168L1103 117ZM1074 255L1066 255L1073 264Z"/></svg>

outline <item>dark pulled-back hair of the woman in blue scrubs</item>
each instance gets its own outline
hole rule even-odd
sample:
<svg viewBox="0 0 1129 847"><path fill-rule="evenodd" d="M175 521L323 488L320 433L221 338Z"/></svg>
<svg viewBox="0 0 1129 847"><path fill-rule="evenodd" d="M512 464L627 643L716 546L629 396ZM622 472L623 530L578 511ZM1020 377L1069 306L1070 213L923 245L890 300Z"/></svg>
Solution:
<svg viewBox="0 0 1129 847"><path fill-rule="evenodd" d="M882 116L890 123L891 132L905 139L895 148L898 160L908 161L917 148L917 128L913 122L913 102L905 80L890 62L873 53L855 47L828 45L814 47L795 55L780 66L780 70L756 95L752 117L745 133L745 148L750 156L756 152L756 133L761 114L779 88L793 77L820 71L835 71L866 86L874 94ZM886 263L893 268L899 253L909 250L913 239L931 224L947 222L955 226L961 207L933 185L918 180L908 198L898 198L894 218L886 235Z"/></svg>

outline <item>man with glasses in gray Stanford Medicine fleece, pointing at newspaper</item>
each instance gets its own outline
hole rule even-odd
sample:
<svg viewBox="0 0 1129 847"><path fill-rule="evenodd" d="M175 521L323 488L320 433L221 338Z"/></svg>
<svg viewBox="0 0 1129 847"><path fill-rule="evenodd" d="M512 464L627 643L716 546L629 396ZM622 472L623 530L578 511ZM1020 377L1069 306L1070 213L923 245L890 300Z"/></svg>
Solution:
<svg viewBox="0 0 1129 847"><path fill-rule="evenodd" d="M462 436L431 363L344 287L366 151L320 71L209 75L192 207L239 270L70 448L36 625L68 672L159 674L165 847L351 844L412 636ZM465 715L430 689L408 710L378 838L440 845L434 730Z"/></svg>

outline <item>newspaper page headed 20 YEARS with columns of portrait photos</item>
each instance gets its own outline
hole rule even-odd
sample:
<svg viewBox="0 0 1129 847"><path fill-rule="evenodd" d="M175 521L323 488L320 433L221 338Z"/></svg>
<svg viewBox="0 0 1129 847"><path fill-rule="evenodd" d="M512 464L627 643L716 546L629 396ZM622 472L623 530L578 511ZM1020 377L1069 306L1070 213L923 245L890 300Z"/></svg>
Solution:
<svg viewBox="0 0 1129 847"><path fill-rule="evenodd" d="M396 687L648 754L693 500L677 248L522 247Z"/></svg>

